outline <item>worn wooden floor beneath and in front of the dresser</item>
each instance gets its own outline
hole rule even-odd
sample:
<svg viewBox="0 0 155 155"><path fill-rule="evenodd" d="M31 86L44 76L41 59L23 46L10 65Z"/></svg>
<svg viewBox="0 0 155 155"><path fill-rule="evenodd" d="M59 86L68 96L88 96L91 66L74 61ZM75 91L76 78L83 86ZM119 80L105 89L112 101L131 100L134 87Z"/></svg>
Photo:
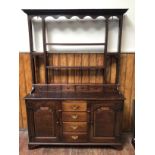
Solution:
<svg viewBox="0 0 155 155"><path fill-rule="evenodd" d="M20 155L134 155L134 148L130 143L130 136L125 135L124 147L121 151L112 148L64 148L64 147L49 147L49 148L37 148L34 150L28 150L28 136L27 131L19 132L19 154Z"/></svg>

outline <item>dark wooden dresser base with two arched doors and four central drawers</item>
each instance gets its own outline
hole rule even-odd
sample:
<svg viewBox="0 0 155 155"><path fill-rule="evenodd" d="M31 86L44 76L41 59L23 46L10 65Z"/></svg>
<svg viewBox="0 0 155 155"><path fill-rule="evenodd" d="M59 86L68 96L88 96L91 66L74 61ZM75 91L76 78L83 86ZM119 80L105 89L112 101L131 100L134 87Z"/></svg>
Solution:
<svg viewBox="0 0 155 155"><path fill-rule="evenodd" d="M26 99L29 149L40 145L121 149L123 100Z"/></svg>

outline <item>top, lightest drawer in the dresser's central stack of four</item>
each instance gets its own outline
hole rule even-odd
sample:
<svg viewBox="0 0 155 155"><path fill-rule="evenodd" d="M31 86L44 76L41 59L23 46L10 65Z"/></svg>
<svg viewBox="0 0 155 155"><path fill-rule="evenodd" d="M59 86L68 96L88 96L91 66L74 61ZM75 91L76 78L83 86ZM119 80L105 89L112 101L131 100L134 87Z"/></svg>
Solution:
<svg viewBox="0 0 155 155"><path fill-rule="evenodd" d="M87 103L85 101L64 101L62 103L63 111L86 111Z"/></svg>

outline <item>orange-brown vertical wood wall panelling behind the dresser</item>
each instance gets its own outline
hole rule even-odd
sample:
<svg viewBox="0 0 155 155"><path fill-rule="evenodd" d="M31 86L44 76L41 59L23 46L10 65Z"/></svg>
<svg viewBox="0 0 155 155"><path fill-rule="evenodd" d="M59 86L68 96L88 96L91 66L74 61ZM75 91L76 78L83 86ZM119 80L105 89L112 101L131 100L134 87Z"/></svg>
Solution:
<svg viewBox="0 0 155 155"><path fill-rule="evenodd" d="M102 66L103 54L53 54L49 55L49 65L54 66ZM108 69L108 82L114 83L116 76L116 63L113 57L110 58ZM43 57L35 59L35 74L38 83L44 83ZM126 100L123 112L123 130L131 130L132 103L135 89L135 54L122 53L120 67L120 90ZM31 67L30 54L19 53L19 127L27 128L26 108L24 96L31 91ZM104 83L103 71L101 70L49 70L49 82L52 83Z"/></svg>

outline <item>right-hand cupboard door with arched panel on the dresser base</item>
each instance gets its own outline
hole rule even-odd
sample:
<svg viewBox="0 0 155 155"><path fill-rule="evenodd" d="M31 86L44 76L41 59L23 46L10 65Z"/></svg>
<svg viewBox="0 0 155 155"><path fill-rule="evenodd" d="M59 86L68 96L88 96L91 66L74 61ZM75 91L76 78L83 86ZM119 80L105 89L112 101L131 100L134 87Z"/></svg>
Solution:
<svg viewBox="0 0 155 155"><path fill-rule="evenodd" d="M120 134L121 105L97 103L91 105L91 135L95 142L115 142Z"/></svg>

